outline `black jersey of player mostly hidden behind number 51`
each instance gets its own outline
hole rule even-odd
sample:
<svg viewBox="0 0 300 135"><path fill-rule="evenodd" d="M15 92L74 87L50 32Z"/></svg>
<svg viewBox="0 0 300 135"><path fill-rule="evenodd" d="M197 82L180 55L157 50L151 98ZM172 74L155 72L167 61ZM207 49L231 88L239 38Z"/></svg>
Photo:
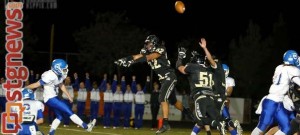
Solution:
<svg viewBox="0 0 300 135"><path fill-rule="evenodd" d="M213 85L213 90L216 94L221 94L222 96L225 96L226 92L226 79L225 79L225 72L222 67L221 62L216 62L217 68L214 69L213 71L213 80L214 80L214 85Z"/></svg>

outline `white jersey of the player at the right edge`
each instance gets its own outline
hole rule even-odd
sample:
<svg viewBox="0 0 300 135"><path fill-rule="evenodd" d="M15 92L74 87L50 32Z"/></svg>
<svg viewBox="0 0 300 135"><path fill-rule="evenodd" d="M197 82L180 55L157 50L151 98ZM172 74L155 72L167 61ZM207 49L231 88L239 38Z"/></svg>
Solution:
<svg viewBox="0 0 300 135"><path fill-rule="evenodd" d="M297 67L284 65L277 66L267 99L271 99L275 102L282 102L284 95L289 90L292 78L297 76L300 76L300 70Z"/></svg>

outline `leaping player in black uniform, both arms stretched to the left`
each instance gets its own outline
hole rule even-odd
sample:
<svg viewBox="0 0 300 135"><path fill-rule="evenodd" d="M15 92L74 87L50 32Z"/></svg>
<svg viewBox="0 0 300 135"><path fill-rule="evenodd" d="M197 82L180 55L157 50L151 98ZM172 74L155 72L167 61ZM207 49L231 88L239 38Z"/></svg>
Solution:
<svg viewBox="0 0 300 135"><path fill-rule="evenodd" d="M141 49L140 54L130 55L115 61L117 65L124 67L139 62L148 62L152 70L158 75L161 83L159 101L162 105L163 126L156 133L163 133L170 129L168 123L169 103L178 110L183 111L183 113L192 115L189 113L191 111L184 108L182 103L176 99L174 87L177 83L177 77L175 70L170 66L164 43L161 43L156 35L149 35L146 38L144 48Z"/></svg>

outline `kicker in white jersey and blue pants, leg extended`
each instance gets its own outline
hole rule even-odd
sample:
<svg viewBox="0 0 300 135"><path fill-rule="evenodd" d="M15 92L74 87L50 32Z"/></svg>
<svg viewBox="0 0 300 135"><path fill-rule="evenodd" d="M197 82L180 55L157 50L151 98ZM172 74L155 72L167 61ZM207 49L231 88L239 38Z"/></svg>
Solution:
<svg viewBox="0 0 300 135"><path fill-rule="evenodd" d="M59 87L60 90L68 96L70 102L73 102L72 97L63 84L63 80L67 77L67 74L68 64L63 59L55 59L52 62L51 70L44 72L39 81L26 86L28 89L35 89L41 85L44 87L44 103L53 108L56 115L56 119L51 124L49 135L54 135L55 130L63 119L63 113L67 114L74 123L80 125L88 132L92 131L96 123L96 119L89 124L84 123L63 101L58 98L57 94Z"/></svg>

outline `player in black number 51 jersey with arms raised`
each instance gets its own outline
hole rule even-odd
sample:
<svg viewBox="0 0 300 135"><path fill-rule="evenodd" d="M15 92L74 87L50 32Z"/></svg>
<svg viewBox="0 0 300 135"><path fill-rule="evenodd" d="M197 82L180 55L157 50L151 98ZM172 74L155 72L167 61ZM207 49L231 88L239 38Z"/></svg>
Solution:
<svg viewBox="0 0 300 135"><path fill-rule="evenodd" d="M188 74L191 97L195 104L194 116L196 118L196 125L191 135L198 134L200 132L200 126L204 125L216 127L220 131L220 134L225 134L225 122L221 121L221 116L216 109L214 101L213 72L218 65L206 48L206 40L201 38L199 44L205 52L210 63L209 66L200 63L199 55L194 56L196 57L194 58L195 61L187 63L184 66L182 64L182 59L186 56L186 50L184 48L179 49L178 60L176 62L177 69L183 74Z"/></svg>

